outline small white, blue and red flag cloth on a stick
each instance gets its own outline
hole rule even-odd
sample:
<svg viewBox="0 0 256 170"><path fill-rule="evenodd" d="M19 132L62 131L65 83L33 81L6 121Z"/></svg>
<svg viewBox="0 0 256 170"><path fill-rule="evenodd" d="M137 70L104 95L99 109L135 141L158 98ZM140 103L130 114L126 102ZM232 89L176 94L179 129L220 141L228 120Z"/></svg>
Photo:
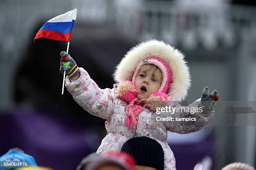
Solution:
<svg viewBox="0 0 256 170"><path fill-rule="evenodd" d="M34 42L38 38L70 41L72 28L77 18L77 9L58 15L47 21L36 33Z"/></svg>

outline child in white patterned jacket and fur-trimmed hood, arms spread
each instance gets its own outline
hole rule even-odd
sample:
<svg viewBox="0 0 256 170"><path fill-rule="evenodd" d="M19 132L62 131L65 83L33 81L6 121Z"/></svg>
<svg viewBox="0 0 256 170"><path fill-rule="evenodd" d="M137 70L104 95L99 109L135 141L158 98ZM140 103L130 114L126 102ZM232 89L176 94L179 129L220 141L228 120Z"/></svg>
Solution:
<svg viewBox="0 0 256 170"><path fill-rule="evenodd" d="M61 52L60 71L64 73L64 70L67 70L65 85L74 100L90 114L106 120L108 134L97 153L120 150L130 138L146 136L157 140L162 146L166 170L176 169L174 154L166 142L167 130L187 134L202 129L213 118L215 100L219 99L217 90L208 95L208 87L205 87L201 102L199 99L187 106L202 106L202 113L161 113L174 118L197 116L197 121L189 124L153 118L156 115L156 106L152 107L154 101L180 101L186 97L190 86L189 68L182 53L157 40L143 42L125 55L116 67L114 77L118 83L114 84L113 89L100 89L69 54ZM171 106L182 107L177 102Z"/></svg>

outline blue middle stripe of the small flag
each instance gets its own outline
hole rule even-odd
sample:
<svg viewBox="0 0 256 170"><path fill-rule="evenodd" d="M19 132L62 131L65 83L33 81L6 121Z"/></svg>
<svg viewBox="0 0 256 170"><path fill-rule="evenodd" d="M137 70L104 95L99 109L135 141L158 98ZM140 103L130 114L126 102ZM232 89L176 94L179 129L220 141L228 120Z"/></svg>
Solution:
<svg viewBox="0 0 256 170"><path fill-rule="evenodd" d="M72 28L74 26L75 20L72 20L72 22L59 22L59 23L45 23L40 30L49 30L49 31L55 31L59 33L69 33L72 31Z"/></svg>

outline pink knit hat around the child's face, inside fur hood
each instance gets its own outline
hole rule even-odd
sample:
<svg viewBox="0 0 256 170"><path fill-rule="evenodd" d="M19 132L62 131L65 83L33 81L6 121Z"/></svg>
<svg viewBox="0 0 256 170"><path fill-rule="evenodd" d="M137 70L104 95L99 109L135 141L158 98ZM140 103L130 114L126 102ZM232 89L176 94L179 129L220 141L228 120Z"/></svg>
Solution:
<svg viewBox="0 0 256 170"><path fill-rule="evenodd" d="M139 70L145 64L153 64L153 65L156 65L157 67L159 67L159 69L162 72L163 77L162 77L161 86L158 91L166 93L167 90L169 89L169 85L171 84L172 73L171 73L169 67L162 60L160 60L159 58L156 58L156 57L149 57L149 58L146 58L145 60L142 60L141 62L138 63L138 65L135 69L135 72L133 74L132 82L135 81L135 78L138 75Z"/></svg>

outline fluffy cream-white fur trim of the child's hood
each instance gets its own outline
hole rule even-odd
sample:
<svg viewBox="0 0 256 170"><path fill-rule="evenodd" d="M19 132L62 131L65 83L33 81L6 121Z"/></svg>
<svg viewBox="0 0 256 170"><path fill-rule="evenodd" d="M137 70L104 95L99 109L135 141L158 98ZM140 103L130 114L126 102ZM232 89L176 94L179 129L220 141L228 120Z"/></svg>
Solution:
<svg viewBox="0 0 256 170"><path fill-rule="evenodd" d="M133 73L139 62L148 57L157 57L169 67L172 72L172 83L167 91L169 100L184 100L191 80L189 67L184 55L163 41L149 40L133 47L116 66L114 79L116 82L132 80Z"/></svg>

